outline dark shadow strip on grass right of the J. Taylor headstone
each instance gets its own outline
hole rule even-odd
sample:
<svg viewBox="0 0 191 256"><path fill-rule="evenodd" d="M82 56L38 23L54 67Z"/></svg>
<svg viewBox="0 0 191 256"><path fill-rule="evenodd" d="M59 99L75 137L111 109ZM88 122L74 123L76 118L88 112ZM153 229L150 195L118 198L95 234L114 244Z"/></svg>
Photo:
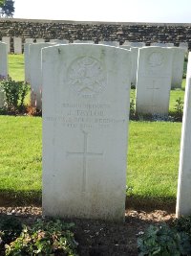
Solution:
<svg viewBox="0 0 191 256"><path fill-rule="evenodd" d="M126 197L125 208L145 212L162 210L168 213L175 213L176 198Z"/></svg>

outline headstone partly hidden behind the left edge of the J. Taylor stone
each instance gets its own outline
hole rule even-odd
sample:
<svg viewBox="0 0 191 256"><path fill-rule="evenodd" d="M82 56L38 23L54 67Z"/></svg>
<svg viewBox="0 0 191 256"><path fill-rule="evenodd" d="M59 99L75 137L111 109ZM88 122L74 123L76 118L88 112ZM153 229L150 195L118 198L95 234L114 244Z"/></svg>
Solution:
<svg viewBox="0 0 191 256"><path fill-rule="evenodd" d="M42 72L41 50L52 46L53 43L33 43L29 45L30 51L30 82L31 82L31 105L37 109L42 108Z"/></svg>

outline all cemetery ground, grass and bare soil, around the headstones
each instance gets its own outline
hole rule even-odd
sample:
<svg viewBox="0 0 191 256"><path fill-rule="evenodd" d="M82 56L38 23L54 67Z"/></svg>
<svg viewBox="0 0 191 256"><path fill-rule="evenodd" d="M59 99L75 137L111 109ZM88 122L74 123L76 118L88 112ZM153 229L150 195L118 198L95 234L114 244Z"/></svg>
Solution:
<svg viewBox="0 0 191 256"><path fill-rule="evenodd" d="M9 61L12 79L23 81L23 56ZM170 110L183 95L171 90ZM41 218L42 120L0 116L0 124L0 220L11 214L31 224ZM138 255L139 232L175 219L180 128L179 122L130 122L125 222L68 220L79 255Z"/></svg>

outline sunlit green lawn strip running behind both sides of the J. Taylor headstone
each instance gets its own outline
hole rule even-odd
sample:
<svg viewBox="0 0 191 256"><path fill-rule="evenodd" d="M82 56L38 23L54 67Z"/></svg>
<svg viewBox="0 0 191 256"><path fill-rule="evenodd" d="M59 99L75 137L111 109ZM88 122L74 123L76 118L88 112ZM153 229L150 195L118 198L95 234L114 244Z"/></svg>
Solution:
<svg viewBox="0 0 191 256"><path fill-rule="evenodd" d="M0 191L5 198L39 201L42 123L0 116ZM180 123L130 122L127 185L135 198L176 199Z"/></svg>

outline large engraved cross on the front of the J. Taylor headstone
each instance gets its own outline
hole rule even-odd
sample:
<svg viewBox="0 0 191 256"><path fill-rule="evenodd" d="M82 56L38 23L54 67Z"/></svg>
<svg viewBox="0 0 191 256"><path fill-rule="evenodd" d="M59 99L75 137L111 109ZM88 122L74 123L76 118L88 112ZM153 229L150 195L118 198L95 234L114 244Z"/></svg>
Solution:
<svg viewBox="0 0 191 256"><path fill-rule="evenodd" d="M79 155L83 157L83 175L82 175L82 192L86 191L86 175L87 175L87 158L88 156L102 156L102 152L90 152L88 151L88 133L84 130L83 132L83 151L67 152L67 155Z"/></svg>

